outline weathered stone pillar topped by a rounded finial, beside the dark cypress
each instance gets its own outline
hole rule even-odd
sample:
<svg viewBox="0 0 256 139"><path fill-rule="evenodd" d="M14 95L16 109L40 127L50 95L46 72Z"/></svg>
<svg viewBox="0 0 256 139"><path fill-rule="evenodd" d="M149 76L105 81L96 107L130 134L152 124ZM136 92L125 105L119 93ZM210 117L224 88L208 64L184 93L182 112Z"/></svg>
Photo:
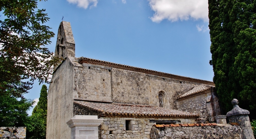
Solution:
<svg viewBox="0 0 256 139"><path fill-rule="evenodd" d="M254 139L250 119L248 116L250 112L248 110L241 109L238 106L237 99L233 99L231 103L233 104L233 109L227 113L229 122L239 124L242 129L243 139Z"/></svg>

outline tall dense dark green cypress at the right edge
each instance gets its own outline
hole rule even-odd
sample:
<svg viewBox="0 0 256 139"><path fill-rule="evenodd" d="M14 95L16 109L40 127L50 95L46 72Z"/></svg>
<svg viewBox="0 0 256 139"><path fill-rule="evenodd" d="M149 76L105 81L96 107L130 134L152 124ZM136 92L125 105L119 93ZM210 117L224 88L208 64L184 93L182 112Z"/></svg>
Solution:
<svg viewBox="0 0 256 139"><path fill-rule="evenodd" d="M208 0L211 53L217 94L223 108L240 101L256 110L256 1ZM254 117L255 119L255 117Z"/></svg>

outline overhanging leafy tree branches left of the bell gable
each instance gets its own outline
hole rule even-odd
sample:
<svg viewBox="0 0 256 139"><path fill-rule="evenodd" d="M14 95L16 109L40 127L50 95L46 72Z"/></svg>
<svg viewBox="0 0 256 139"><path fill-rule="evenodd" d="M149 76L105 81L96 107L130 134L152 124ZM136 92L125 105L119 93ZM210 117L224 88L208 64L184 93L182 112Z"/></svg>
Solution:
<svg viewBox="0 0 256 139"><path fill-rule="evenodd" d="M49 18L45 9L37 9L37 2L0 1L0 93L9 90L12 95L21 97L31 89L35 79L49 83L52 65L58 61L44 47L54 33L44 25Z"/></svg>

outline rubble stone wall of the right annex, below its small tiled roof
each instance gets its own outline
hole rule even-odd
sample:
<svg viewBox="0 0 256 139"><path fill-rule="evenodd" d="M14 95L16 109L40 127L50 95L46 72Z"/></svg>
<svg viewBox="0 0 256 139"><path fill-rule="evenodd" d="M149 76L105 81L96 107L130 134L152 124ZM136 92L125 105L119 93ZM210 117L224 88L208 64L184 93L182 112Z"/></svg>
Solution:
<svg viewBox="0 0 256 139"><path fill-rule="evenodd" d="M209 121L209 114L206 106L207 94L201 94L185 100L178 101L178 109L181 111L200 114L200 117Z"/></svg>

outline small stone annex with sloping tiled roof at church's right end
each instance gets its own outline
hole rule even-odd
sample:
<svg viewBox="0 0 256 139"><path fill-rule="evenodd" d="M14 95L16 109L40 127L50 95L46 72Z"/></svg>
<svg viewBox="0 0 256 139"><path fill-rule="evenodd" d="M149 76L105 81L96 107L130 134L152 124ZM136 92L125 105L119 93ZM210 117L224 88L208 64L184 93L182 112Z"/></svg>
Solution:
<svg viewBox="0 0 256 139"><path fill-rule="evenodd" d="M179 110L200 114L209 122L216 121L215 116L221 115L214 86L197 85L178 96L177 101Z"/></svg>

